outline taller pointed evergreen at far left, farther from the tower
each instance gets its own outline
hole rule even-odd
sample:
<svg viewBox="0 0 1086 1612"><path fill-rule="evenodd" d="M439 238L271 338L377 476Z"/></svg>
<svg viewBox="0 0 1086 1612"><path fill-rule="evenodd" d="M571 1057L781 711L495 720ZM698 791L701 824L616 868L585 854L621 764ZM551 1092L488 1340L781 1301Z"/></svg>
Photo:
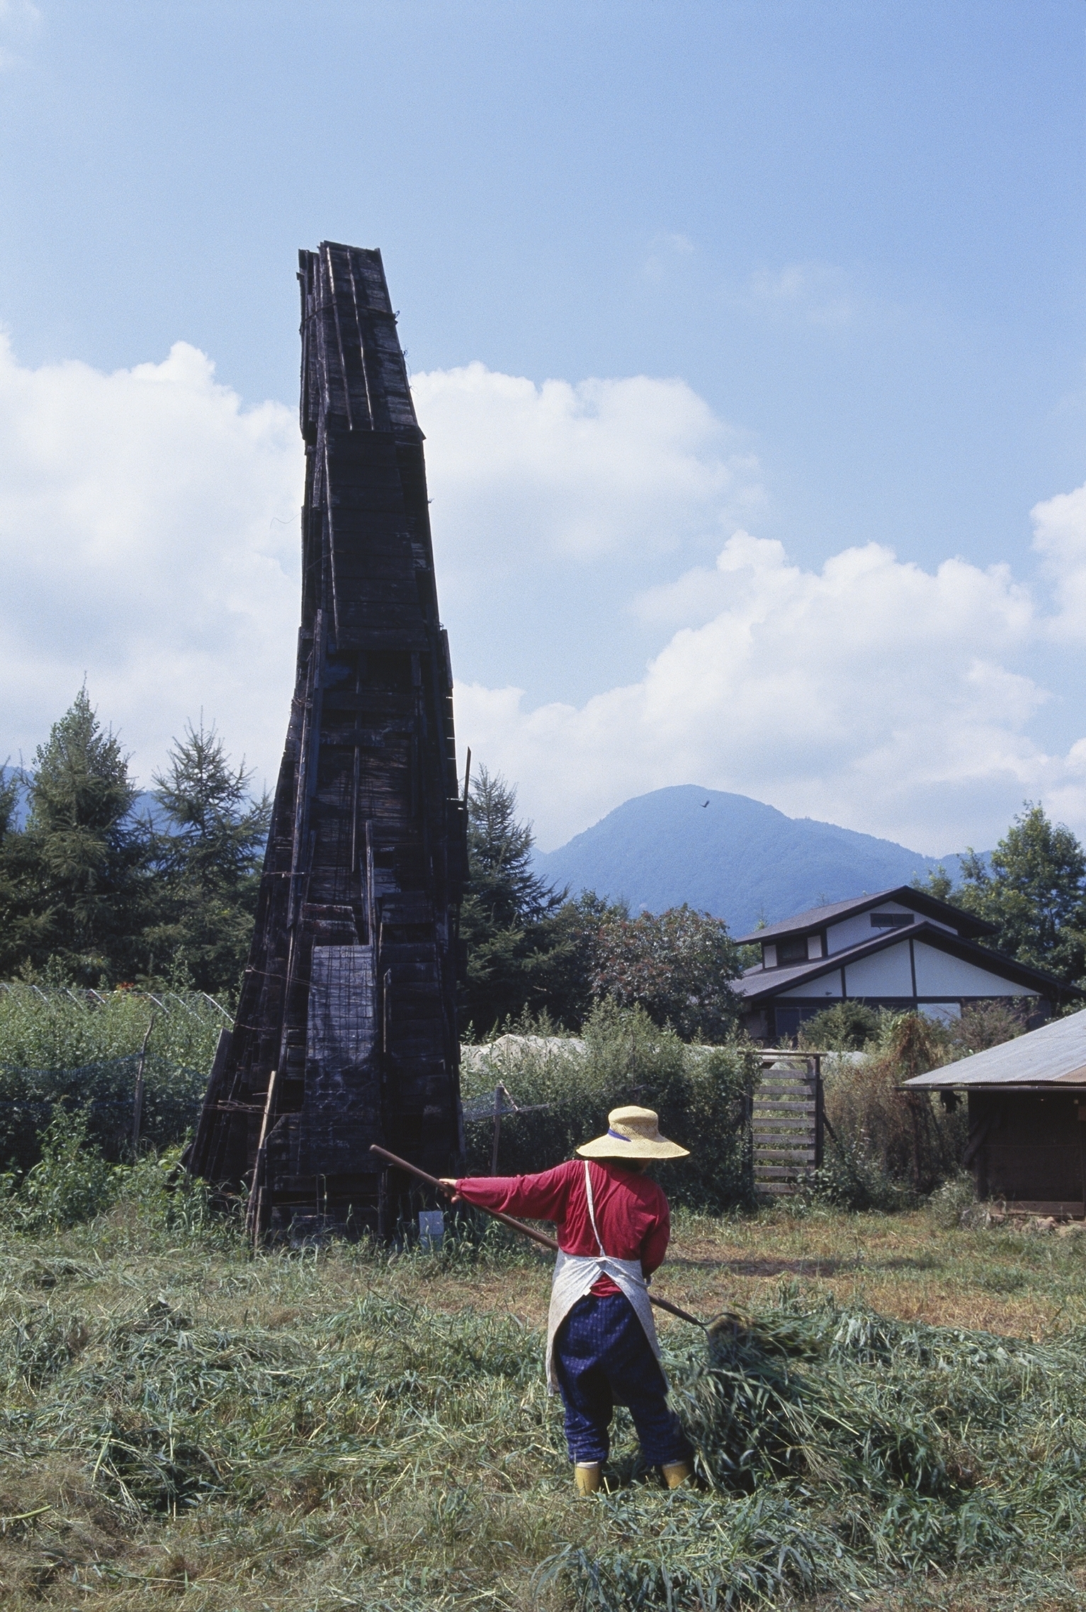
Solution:
<svg viewBox="0 0 1086 1612"><path fill-rule="evenodd" d="M134 978L145 961L150 833L131 817L127 758L102 730L85 687L24 777L26 829L3 835L8 903L0 967L84 985Z"/></svg>

